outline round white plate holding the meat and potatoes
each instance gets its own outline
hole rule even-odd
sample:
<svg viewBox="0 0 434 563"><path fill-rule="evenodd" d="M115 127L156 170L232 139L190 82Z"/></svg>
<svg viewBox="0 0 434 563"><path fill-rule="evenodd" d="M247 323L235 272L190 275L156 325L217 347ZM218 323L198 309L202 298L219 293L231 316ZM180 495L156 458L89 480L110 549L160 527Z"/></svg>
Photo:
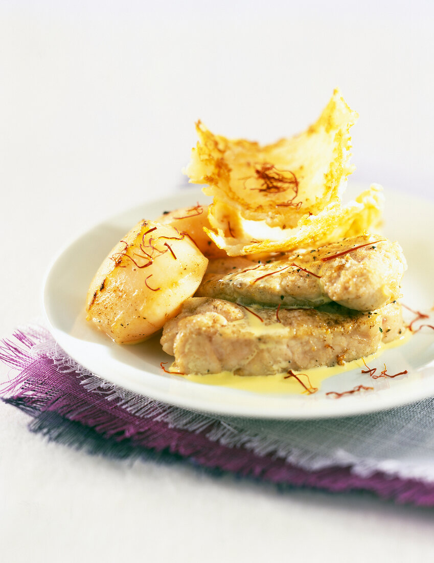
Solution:
<svg viewBox="0 0 434 563"><path fill-rule="evenodd" d="M348 192L352 196L361 189L363 186L356 186ZM110 248L141 218L154 218L165 209L185 207L196 201L203 203L207 199L200 189L185 188L173 196L143 203L93 227L56 258L46 278L44 309L53 336L75 360L98 376L142 395L216 414L334 417L387 409L434 395L434 330L429 329L373 362L380 370L386 363L388 373L407 369L407 376L378 379L375 391L340 399L331 399L325 393L350 390L356 385L372 386L373 382L355 369L327 379L320 391L310 396L257 394L201 385L162 372L160 362L171 358L162 352L158 338L135 346L119 346L94 330L85 321L85 294ZM384 233L399 240L409 265L404 276L403 302L419 310L430 309L434 304L434 249L429 236L433 217L432 202L386 192Z"/></svg>

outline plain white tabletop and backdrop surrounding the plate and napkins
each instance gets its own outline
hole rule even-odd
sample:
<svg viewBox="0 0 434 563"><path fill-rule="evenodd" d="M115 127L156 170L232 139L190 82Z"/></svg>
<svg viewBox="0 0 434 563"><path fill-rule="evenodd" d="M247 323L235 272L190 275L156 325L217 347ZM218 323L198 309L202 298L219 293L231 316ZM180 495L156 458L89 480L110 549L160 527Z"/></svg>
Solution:
<svg viewBox="0 0 434 563"><path fill-rule="evenodd" d="M183 182L197 118L268 142L339 86L360 114L354 179L432 198L430 3L347 4L2 2L0 334L41 315L67 240ZM3 561L432 559L432 510L129 466L27 422L0 404Z"/></svg>

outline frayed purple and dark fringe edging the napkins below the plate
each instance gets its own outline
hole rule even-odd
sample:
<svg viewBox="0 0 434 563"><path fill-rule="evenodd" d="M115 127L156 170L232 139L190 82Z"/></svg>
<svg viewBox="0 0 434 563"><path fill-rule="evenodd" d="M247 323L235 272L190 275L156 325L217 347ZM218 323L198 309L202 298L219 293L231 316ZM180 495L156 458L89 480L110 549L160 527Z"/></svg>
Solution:
<svg viewBox="0 0 434 563"><path fill-rule="evenodd" d="M49 440L116 459L187 462L214 474L333 492L370 491L381 498L434 506L434 484L381 471L357 475L351 466L306 470L264 449L252 436L227 439L227 421L134 395L78 366L40 327L3 341L0 361L10 368L2 400L32 417L29 428ZM225 439L226 436L226 439Z"/></svg>

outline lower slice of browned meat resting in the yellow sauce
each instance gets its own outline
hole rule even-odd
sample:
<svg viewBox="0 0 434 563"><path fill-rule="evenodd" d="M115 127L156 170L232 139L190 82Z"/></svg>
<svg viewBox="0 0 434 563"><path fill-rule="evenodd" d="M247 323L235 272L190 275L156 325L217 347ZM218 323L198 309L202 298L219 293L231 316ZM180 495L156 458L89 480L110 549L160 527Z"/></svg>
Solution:
<svg viewBox="0 0 434 563"><path fill-rule="evenodd" d="M332 303L317 309L255 307L193 297L166 323L163 350L182 373L257 376L363 358L403 331L401 306L359 312Z"/></svg>

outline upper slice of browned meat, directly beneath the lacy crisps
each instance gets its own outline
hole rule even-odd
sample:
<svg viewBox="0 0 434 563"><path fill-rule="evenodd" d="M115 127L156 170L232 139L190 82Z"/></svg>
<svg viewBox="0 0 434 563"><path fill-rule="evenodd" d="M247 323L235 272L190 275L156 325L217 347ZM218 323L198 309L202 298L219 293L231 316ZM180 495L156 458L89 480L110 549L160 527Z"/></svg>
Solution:
<svg viewBox="0 0 434 563"><path fill-rule="evenodd" d="M406 267L398 243L381 235L355 236L259 261L211 260L196 296L287 308L336 301L349 309L372 311L401 297Z"/></svg>

